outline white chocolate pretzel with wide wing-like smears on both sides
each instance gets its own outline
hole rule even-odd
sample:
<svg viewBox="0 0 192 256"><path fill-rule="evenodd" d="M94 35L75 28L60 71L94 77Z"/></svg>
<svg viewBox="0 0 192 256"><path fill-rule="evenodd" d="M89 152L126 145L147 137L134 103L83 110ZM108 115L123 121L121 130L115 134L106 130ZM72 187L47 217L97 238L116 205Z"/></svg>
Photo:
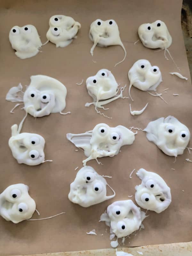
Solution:
<svg viewBox="0 0 192 256"><path fill-rule="evenodd" d="M97 124L92 131L72 134L67 133L67 139L77 148L83 148L88 158L83 161L86 165L97 157L113 157L119 153L124 145L131 145L135 140L135 133L122 125L109 127L107 124Z"/></svg>

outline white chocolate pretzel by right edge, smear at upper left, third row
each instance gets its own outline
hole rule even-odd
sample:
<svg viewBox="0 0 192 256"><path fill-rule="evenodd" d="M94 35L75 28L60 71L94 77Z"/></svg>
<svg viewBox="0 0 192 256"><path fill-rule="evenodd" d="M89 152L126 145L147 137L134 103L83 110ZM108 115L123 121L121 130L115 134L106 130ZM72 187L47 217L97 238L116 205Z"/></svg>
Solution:
<svg viewBox="0 0 192 256"><path fill-rule="evenodd" d="M190 140L189 129L174 116L158 118L143 131L168 156L182 155Z"/></svg>

